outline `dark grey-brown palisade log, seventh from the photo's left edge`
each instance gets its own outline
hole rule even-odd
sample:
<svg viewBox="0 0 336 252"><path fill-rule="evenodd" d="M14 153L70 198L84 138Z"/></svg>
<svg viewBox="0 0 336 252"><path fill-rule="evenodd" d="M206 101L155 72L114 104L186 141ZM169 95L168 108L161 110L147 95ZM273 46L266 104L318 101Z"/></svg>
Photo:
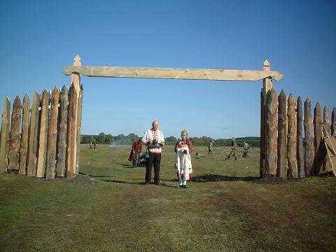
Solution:
<svg viewBox="0 0 336 252"><path fill-rule="evenodd" d="M66 160L66 132L68 128L68 101L69 90L66 85L62 87L62 94L59 98L59 127L57 136L57 162L56 176L64 176Z"/></svg>

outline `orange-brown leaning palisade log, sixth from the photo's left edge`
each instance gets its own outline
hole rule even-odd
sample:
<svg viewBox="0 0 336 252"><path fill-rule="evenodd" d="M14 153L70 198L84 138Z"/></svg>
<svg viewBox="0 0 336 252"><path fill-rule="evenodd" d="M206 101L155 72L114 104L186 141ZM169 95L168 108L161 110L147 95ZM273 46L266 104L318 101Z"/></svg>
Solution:
<svg viewBox="0 0 336 252"><path fill-rule="evenodd" d="M59 101L59 88L55 87L54 90L52 90L50 121L48 127L47 167L45 170L45 179L47 180L55 178L58 101Z"/></svg>

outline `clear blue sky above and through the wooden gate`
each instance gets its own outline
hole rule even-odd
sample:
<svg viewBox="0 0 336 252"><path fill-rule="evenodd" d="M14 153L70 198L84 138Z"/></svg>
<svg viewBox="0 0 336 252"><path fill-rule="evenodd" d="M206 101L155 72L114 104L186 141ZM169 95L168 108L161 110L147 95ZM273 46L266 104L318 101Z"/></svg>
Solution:
<svg viewBox="0 0 336 252"><path fill-rule="evenodd" d="M0 0L0 111L34 90L69 85L83 66L261 70L276 92L336 106L336 1ZM166 137L186 128L215 139L260 134L258 82L88 78L83 134L142 136L153 119ZM2 113L2 112L1 112Z"/></svg>

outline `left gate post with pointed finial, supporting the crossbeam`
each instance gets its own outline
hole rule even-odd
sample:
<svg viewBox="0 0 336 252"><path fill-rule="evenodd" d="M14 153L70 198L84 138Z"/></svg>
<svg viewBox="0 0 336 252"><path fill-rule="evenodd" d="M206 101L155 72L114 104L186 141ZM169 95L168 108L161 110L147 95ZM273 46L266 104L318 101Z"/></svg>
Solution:
<svg viewBox="0 0 336 252"><path fill-rule="evenodd" d="M74 58L73 66L81 66L80 57L76 55ZM68 120L69 117L72 118L71 125L69 125L68 121L68 139L66 143L66 178L73 179L76 176L76 156L77 156L77 148L79 148L77 144L77 131L78 131L78 97L80 92L80 73L73 72L71 74L71 88L73 88L73 95L70 99L73 101L69 101L68 108ZM70 139L69 139L70 138Z"/></svg>

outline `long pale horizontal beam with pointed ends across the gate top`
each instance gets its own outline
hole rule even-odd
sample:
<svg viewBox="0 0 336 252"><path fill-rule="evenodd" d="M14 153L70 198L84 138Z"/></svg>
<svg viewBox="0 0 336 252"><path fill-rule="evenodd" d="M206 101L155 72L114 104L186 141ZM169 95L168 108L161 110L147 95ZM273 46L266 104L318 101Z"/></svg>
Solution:
<svg viewBox="0 0 336 252"><path fill-rule="evenodd" d="M224 69L167 69L123 66L66 66L66 76L80 73L87 77L111 78L163 78L186 80L262 80L283 78L278 71L224 70Z"/></svg>

